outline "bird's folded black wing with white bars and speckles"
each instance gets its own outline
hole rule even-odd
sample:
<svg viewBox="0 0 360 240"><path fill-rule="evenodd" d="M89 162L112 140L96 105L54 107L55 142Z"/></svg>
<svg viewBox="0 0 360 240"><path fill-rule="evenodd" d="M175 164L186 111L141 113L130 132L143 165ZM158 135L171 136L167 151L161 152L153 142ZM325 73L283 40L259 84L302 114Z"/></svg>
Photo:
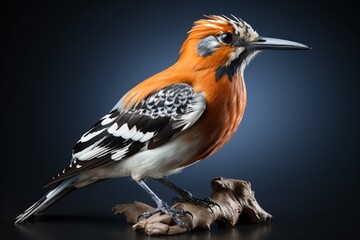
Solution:
<svg viewBox="0 0 360 240"><path fill-rule="evenodd" d="M118 103L80 138L70 165L47 185L159 147L191 127L205 108L202 93L184 83L160 89L130 109Z"/></svg>

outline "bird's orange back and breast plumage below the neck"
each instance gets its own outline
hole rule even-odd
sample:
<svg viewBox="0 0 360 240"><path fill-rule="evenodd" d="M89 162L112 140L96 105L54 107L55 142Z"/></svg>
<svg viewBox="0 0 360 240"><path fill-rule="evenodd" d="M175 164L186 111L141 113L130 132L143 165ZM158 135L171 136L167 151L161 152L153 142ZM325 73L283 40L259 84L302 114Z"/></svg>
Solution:
<svg viewBox="0 0 360 240"><path fill-rule="evenodd" d="M186 63L186 62L185 62ZM202 92L206 98L206 110L200 119L182 135L188 144L200 138L194 157L183 162L184 167L205 159L229 141L237 130L246 105L246 89L239 75L227 75L215 80L216 68L187 70L184 64L175 64L165 71L141 82L125 96L125 104L136 105L150 93L169 84L187 83L195 92Z"/></svg>

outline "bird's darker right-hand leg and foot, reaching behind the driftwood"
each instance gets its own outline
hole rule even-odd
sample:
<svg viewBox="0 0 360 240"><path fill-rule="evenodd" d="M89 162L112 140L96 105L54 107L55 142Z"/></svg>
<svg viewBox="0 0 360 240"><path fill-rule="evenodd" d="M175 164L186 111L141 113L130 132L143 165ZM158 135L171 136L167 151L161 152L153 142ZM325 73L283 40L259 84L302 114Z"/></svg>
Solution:
<svg viewBox="0 0 360 240"><path fill-rule="evenodd" d="M165 179L165 178L159 178L159 179L155 179L158 182L164 184L165 186L171 188L173 191L177 192L180 197L175 197L173 199L173 202L191 202L194 204L198 204L204 207L209 208L211 211L213 206L218 206L220 208L220 206L213 202L210 198L197 198L194 197L189 191L186 191L185 189L175 185L174 183L170 182L169 180Z"/></svg>

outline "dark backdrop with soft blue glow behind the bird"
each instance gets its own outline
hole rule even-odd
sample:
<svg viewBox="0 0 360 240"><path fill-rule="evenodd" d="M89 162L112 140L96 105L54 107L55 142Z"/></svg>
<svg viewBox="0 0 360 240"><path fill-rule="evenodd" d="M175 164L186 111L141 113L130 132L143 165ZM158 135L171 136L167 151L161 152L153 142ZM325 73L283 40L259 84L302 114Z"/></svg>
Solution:
<svg viewBox="0 0 360 240"><path fill-rule="evenodd" d="M234 14L259 34L311 51L259 54L245 71L248 105L230 142L170 180L205 197L214 176L247 179L272 222L174 239L359 239L359 15L314 1L13 2L1 46L2 239L141 239L111 208L153 204L129 179L76 191L48 221L15 227L42 185L68 164L95 121L143 79L167 68L193 21ZM5 154L4 154L5 153ZM154 181L164 199L174 194Z"/></svg>

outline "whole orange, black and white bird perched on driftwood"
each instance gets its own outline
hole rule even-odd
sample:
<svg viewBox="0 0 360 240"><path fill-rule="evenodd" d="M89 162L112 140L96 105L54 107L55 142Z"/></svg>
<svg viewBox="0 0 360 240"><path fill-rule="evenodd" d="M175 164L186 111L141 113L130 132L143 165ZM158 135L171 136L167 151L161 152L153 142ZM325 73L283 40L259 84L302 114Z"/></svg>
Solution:
<svg viewBox="0 0 360 240"><path fill-rule="evenodd" d="M181 209L171 208L144 182L158 180L178 199L206 206L165 177L218 151L235 133L246 105L244 69L265 49L309 49L308 46L265 38L242 19L205 16L188 32L178 61L126 93L76 143L70 165L46 186L42 198L16 218L23 222L72 190L99 180L131 176L155 201L144 213L169 214L179 225Z"/></svg>

